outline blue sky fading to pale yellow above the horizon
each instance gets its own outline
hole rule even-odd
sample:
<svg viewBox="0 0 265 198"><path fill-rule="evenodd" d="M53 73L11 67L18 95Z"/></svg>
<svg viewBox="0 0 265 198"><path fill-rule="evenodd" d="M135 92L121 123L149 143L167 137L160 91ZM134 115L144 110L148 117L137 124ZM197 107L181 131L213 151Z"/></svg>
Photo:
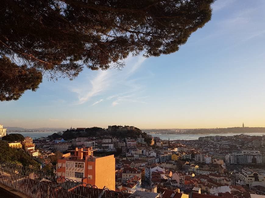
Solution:
<svg viewBox="0 0 265 198"><path fill-rule="evenodd" d="M176 53L129 57L122 70L44 79L1 102L4 126L265 127L265 1L217 0L212 20Z"/></svg>

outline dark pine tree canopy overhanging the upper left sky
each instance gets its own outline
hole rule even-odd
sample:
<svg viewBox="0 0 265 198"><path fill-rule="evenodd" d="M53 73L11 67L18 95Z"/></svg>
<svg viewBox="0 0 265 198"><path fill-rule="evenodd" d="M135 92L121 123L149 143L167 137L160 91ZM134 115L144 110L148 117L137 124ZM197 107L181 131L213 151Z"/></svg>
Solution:
<svg viewBox="0 0 265 198"><path fill-rule="evenodd" d="M12 84L16 75L2 74L0 100L17 100L25 90L36 90L42 75L73 79L83 67L124 67L122 60L130 53L149 57L176 52L210 20L213 2L2 0L0 70L6 72L2 62L16 65L20 77Z"/></svg>

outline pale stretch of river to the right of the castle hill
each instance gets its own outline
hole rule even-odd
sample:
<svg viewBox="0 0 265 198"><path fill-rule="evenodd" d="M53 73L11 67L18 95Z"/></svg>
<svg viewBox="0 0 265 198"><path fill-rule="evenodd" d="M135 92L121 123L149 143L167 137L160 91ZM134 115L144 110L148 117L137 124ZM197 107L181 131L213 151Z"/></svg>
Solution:
<svg viewBox="0 0 265 198"><path fill-rule="evenodd" d="M244 133L246 135L265 135L265 133ZM161 140L197 140L199 137L206 137L206 136L233 136L233 135L240 135L240 133L221 133L221 134L189 134L189 135L164 135L164 134L150 134L153 137L159 137Z"/></svg>

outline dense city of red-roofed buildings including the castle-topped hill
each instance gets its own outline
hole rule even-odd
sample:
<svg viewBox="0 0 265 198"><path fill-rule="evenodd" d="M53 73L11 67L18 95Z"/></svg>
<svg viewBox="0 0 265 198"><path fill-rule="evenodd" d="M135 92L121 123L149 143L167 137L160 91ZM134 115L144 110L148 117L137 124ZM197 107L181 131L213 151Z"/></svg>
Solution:
<svg viewBox="0 0 265 198"><path fill-rule="evenodd" d="M265 195L265 135L161 140L114 125L71 127L33 140L0 128L2 147L6 142L33 159L9 162L99 189L154 198Z"/></svg>

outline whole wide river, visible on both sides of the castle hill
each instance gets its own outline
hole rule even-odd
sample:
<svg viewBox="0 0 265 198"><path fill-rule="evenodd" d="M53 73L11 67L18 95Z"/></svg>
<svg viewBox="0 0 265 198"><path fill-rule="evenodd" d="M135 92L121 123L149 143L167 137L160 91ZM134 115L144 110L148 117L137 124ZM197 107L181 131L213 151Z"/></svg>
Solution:
<svg viewBox="0 0 265 198"><path fill-rule="evenodd" d="M40 137L47 137L48 135L52 135L56 132L8 132L7 134L13 134L13 133L19 133L23 135L24 137L30 136L33 139L37 139ZM239 135L240 133L221 133L221 134L190 134L190 135L163 135L163 134L150 134L153 137L160 137L162 140L197 140L199 137L205 137L205 136L233 136L233 135ZM246 135L265 135L265 133L245 133Z"/></svg>

